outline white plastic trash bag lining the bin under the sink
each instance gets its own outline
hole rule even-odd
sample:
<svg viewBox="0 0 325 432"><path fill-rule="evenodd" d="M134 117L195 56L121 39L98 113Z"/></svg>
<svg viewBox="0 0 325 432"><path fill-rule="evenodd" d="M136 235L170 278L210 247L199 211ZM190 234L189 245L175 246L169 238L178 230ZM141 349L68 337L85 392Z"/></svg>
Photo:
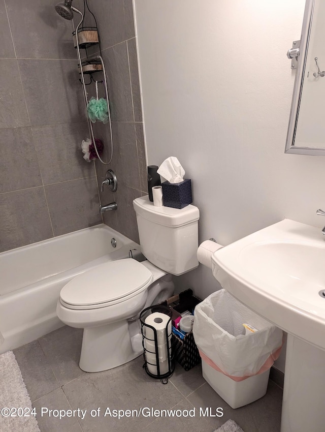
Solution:
<svg viewBox="0 0 325 432"><path fill-rule="evenodd" d="M224 289L199 303L194 316L193 336L202 359L235 381L267 371L280 355L282 330ZM245 335L244 323L257 330Z"/></svg>

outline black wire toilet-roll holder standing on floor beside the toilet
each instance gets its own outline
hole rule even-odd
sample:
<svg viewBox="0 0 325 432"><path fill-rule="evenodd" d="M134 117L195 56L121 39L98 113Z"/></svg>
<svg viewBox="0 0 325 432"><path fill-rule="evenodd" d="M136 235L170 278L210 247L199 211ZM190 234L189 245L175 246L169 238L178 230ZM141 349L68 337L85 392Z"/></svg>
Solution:
<svg viewBox="0 0 325 432"><path fill-rule="evenodd" d="M158 349L158 337L157 337L157 330L151 326L150 324L146 324L145 320L146 318L155 313L155 312L160 312L163 313L164 315L168 315L169 316L169 320L166 324L166 328L165 328L165 335L166 335L166 351L167 351L167 358L166 360L164 360L165 365L164 368L162 367L161 361L159 359L159 349ZM175 369L175 360L174 360L174 350L173 350L173 338L172 338L172 312L170 310L169 307L166 306L162 306L162 305L154 305L154 306L149 306L147 308L145 308L141 314L140 314L140 322L141 322L141 333L142 333L142 346L143 346L143 358L144 358L144 365L143 367L145 368L146 373L149 375L149 377L151 378L155 378L155 379L159 379L161 380L161 382L163 384L167 384L168 383L168 378L173 374L174 369ZM146 329L150 328L153 331L153 339L149 338L148 336L146 336ZM151 351L147 348L147 342L154 344L154 351ZM150 359L150 361L148 361L147 359L147 353L148 355L152 355L155 357L155 363ZM156 369L157 373L154 374L152 372L149 371L149 368L151 369ZM167 367L167 371L166 371L166 367ZM166 372L165 372L166 371Z"/></svg>

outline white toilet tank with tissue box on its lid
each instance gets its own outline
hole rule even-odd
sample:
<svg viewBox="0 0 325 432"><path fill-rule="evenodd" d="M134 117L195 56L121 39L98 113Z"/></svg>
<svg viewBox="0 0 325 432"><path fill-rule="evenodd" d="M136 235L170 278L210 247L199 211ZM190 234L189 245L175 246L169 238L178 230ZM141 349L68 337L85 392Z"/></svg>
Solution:
<svg viewBox="0 0 325 432"><path fill-rule="evenodd" d="M143 255L156 267L175 275L198 267L199 209L157 207L149 197L136 198L138 231Z"/></svg>

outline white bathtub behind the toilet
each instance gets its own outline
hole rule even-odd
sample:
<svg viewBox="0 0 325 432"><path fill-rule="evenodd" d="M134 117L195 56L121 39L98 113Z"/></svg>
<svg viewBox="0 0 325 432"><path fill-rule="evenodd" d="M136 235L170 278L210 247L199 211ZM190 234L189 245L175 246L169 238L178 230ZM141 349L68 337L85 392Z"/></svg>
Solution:
<svg viewBox="0 0 325 432"><path fill-rule="evenodd" d="M101 224L0 253L0 354L63 326L56 316L63 286L99 264L127 258L130 249L140 253L139 244Z"/></svg>

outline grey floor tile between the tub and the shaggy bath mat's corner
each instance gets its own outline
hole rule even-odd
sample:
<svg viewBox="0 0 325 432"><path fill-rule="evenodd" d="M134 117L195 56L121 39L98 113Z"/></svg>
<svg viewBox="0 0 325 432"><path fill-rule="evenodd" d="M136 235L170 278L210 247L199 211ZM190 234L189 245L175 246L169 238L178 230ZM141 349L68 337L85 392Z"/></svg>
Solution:
<svg viewBox="0 0 325 432"><path fill-rule="evenodd" d="M38 341L14 350L30 400L36 400L60 386Z"/></svg>

